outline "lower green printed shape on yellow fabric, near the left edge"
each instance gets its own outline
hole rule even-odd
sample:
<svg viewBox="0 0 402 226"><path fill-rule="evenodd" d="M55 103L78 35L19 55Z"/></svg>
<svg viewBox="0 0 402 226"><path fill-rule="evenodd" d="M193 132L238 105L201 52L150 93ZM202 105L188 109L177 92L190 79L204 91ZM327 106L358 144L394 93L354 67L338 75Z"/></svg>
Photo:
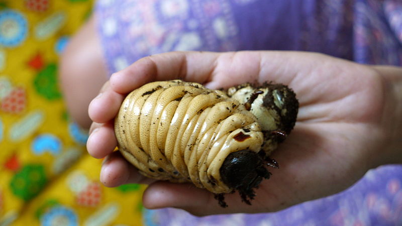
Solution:
<svg viewBox="0 0 402 226"><path fill-rule="evenodd" d="M46 182L47 178L43 165L28 164L13 176L10 189L17 197L28 201L45 187Z"/></svg>

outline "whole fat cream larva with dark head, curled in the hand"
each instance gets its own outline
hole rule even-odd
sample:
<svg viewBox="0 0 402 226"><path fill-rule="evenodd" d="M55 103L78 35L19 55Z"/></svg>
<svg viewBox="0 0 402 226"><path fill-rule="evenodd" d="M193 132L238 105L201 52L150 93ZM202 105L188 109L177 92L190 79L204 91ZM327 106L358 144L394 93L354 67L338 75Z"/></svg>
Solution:
<svg viewBox="0 0 402 226"><path fill-rule="evenodd" d="M216 194L239 191L250 204L254 188L277 167L270 153L293 129L298 110L285 85L243 84L227 91L181 80L132 91L115 119L122 155L151 178L192 182Z"/></svg>

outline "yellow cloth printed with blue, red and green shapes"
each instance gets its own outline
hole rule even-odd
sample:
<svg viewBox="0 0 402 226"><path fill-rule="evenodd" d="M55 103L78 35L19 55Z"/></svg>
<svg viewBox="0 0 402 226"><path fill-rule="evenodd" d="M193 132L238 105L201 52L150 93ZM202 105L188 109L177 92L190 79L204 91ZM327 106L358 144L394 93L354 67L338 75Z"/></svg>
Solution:
<svg viewBox="0 0 402 226"><path fill-rule="evenodd" d="M106 188L69 120L59 55L88 0L0 0L0 225L141 225L137 184Z"/></svg>

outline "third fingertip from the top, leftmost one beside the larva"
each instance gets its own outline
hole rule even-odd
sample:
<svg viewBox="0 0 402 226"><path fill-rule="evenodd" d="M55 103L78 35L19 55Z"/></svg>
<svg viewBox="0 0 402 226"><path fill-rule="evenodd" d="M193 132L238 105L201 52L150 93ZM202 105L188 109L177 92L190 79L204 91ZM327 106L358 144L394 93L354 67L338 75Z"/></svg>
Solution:
<svg viewBox="0 0 402 226"><path fill-rule="evenodd" d="M113 123L92 125L93 130L86 142L86 149L92 157L104 158L112 153L117 146Z"/></svg>

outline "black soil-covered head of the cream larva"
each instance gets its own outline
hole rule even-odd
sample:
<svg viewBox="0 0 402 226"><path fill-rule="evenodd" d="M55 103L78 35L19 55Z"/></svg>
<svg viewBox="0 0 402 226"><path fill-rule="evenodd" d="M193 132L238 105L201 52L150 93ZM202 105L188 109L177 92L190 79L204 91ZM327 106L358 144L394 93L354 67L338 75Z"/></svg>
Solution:
<svg viewBox="0 0 402 226"><path fill-rule="evenodd" d="M251 150L229 154L220 169L220 174L222 182L239 191L242 200L247 204L251 204L250 199L254 199L254 188L263 178L268 179L270 176L263 159Z"/></svg>

